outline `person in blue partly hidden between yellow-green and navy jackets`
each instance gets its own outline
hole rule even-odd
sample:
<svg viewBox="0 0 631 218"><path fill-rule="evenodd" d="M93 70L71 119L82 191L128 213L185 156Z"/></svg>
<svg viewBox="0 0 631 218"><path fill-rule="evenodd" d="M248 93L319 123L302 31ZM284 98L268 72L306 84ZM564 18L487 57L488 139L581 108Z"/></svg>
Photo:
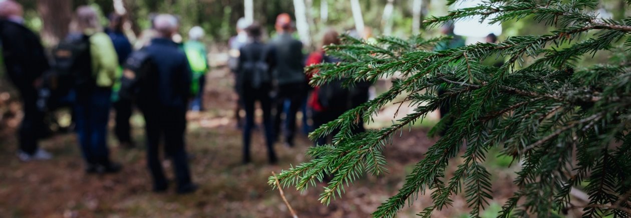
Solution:
<svg viewBox="0 0 631 218"><path fill-rule="evenodd" d="M112 103L115 112L114 134L121 147L134 147L134 142L131 140L131 125L129 125L129 118L131 118L131 113L133 112L131 100L119 98L118 96L119 89L121 89L121 66L125 63L129 54L131 54L132 47L129 39L127 39L127 36L123 32L122 25L125 23L123 16L110 14L109 20L110 26L105 29L105 33L112 39L119 63L119 69L116 71L117 80L112 88L112 92L114 93L114 95L112 95Z"/></svg>

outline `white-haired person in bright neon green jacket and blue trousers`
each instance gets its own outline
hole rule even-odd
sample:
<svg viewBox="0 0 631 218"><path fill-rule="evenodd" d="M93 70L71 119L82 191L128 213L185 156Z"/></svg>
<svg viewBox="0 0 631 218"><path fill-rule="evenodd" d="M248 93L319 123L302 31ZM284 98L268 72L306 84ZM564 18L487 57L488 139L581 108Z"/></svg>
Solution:
<svg viewBox="0 0 631 218"><path fill-rule="evenodd" d="M191 110L199 112L204 110L204 86L206 85L206 72L208 72L208 56L206 45L201 42L204 37L204 29L194 26L189 31L189 40L184 43L184 52L189 59L189 65L193 72L191 93L195 95L191 101Z"/></svg>

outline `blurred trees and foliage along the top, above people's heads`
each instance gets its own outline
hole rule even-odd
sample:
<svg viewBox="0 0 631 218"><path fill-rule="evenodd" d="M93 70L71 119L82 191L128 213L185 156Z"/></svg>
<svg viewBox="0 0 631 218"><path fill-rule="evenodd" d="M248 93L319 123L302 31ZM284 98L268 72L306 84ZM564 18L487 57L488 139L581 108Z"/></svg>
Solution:
<svg viewBox="0 0 631 218"><path fill-rule="evenodd" d="M450 9L446 1L436 0L23 0L27 25L40 32L48 46L54 45L59 38L68 33L68 23L73 11L81 5L98 8L104 15L110 13L126 14L129 35L139 35L149 28L151 13L172 13L180 18L182 33L192 26L201 26L206 30L209 43L222 44L235 35L235 24L245 16L245 4L253 4L253 20L273 31L274 20L280 13L289 13L292 17L304 17L309 28L310 44L317 45L317 40L324 30L334 28L345 31L357 28L358 9L361 24L372 36L393 35L408 37L416 33L430 36L439 32L423 30L420 23L428 16L442 16ZM296 4L298 3L298 4ZM297 7L298 6L298 7ZM298 12L298 14L297 14ZM357 11L356 11L357 12ZM602 0L598 11L605 18L624 18L628 14L623 0ZM103 25L107 23L103 16ZM300 25L300 24L298 24ZM300 28L300 27L298 27ZM545 25L532 20L503 23L501 38L514 35L528 35L549 32ZM185 34L182 34L185 35Z"/></svg>

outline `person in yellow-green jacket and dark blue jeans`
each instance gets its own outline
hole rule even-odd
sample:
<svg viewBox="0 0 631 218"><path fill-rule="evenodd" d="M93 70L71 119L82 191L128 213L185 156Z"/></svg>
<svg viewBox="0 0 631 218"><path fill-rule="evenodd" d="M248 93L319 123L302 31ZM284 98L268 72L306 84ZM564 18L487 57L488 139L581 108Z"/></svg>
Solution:
<svg viewBox="0 0 631 218"><path fill-rule="evenodd" d="M78 71L90 72L80 72L83 77L74 81L74 112L81 152L86 162L85 170L86 173L116 173L122 167L110 161L107 123L112 105L112 86L119 66L118 55L112 40L103 32L94 8L77 8L74 22L80 34L69 37L66 43L89 45L89 52L78 53L73 63L73 68Z"/></svg>

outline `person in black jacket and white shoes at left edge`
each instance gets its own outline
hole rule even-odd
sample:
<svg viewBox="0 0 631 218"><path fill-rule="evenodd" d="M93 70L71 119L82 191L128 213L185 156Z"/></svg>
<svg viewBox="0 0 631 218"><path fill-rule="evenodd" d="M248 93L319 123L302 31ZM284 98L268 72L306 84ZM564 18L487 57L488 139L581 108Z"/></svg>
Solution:
<svg viewBox="0 0 631 218"><path fill-rule="evenodd" d="M38 135L44 130L44 115L37 108L37 86L49 64L40 38L23 25L22 15L22 7L15 1L0 2L4 64L9 78L20 92L24 110L18 134L18 158L22 161L50 159L52 156L37 146Z"/></svg>

